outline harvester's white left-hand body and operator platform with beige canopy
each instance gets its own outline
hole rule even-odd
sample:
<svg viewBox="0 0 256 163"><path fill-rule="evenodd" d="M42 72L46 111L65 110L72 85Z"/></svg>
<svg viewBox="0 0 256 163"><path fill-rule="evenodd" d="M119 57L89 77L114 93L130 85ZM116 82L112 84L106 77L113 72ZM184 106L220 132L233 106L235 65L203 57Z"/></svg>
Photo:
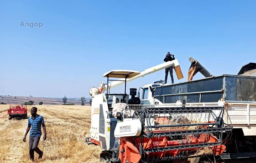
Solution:
<svg viewBox="0 0 256 163"><path fill-rule="evenodd" d="M138 101L140 99L134 97L134 91L136 94L136 89L131 89L133 94L130 101L129 94L126 93L127 79L131 79L138 74L140 72L132 70L112 70L103 75L103 77L107 78L106 84L101 82L100 88L93 87L90 90L90 94L92 95L91 137L86 138L86 143L100 145L105 150L114 148L114 130L117 122L122 120L120 108L131 102L140 104L140 101ZM115 78L120 79L116 80ZM109 83L109 81L112 82ZM124 82L124 93L110 93L110 89L113 88L113 82Z"/></svg>

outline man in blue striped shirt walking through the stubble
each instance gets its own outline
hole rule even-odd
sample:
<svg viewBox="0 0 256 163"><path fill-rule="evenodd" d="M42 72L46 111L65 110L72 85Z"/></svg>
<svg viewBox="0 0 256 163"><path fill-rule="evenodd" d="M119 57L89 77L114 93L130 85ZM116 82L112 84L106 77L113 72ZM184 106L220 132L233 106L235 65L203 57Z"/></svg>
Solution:
<svg viewBox="0 0 256 163"><path fill-rule="evenodd" d="M46 140L46 129L44 125L44 117L42 115L36 114L36 112L37 112L37 108L32 107L30 111L31 117L28 118L28 128L23 138L23 142L25 142L28 131L31 128L30 134L29 134L29 158L31 160L34 160L34 151L36 151L36 153L39 154L38 159L41 159L43 157L43 151L41 151L37 147L40 137L42 135L41 125L43 126L43 130L44 130L43 140Z"/></svg>

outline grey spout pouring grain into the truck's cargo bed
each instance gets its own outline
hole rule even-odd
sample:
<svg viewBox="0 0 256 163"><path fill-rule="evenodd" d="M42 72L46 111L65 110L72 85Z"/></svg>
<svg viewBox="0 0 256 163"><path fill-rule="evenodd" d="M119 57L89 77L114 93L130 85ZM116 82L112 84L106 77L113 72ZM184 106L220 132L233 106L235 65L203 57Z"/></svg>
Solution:
<svg viewBox="0 0 256 163"><path fill-rule="evenodd" d="M204 77L211 77L212 74L204 68L196 59L189 57L188 60L191 62L191 66L188 70L188 82L193 79L196 73L200 72Z"/></svg>

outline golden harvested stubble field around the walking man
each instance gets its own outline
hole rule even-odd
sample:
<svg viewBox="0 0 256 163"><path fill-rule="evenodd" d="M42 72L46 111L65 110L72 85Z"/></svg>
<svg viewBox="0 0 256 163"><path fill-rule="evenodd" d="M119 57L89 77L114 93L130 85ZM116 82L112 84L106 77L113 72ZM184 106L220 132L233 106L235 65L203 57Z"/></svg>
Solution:
<svg viewBox="0 0 256 163"><path fill-rule="evenodd" d="M28 112L33 106L28 106ZM88 146L84 137L89 137L91 125L90 106L68 105L36 105L38 114L44 116L47 139L39 142L39 148L44 151L43 159L35 162L42 163L97 163L102 149L99 146ZM0 162L32 162L28 154L27 142L23 142L28 119L8 120L6 110L9 105L0 105ZM30 114L29 114L30 115ZM42 130L43 132L43 130ZM187 161L173 161L188 163ZM206 163L209 161L201 161ZM223 161L221 161L223 162ZM255 159L225 161L227 163L253 163Z"/></svg>

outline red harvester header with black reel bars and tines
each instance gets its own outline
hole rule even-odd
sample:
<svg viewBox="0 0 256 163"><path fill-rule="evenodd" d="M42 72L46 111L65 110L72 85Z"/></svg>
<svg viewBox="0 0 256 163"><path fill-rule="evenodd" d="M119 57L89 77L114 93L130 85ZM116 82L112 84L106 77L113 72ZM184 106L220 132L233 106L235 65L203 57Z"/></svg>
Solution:
<svg viewBox="0 0 256 163"><path fill-rule="evenodd" d="M232 131L222 119L224 111L224 106L127 105L124 121L139 119L142 132L140 136L121 137L119 158L127 163L221 155Z"/></svg>

